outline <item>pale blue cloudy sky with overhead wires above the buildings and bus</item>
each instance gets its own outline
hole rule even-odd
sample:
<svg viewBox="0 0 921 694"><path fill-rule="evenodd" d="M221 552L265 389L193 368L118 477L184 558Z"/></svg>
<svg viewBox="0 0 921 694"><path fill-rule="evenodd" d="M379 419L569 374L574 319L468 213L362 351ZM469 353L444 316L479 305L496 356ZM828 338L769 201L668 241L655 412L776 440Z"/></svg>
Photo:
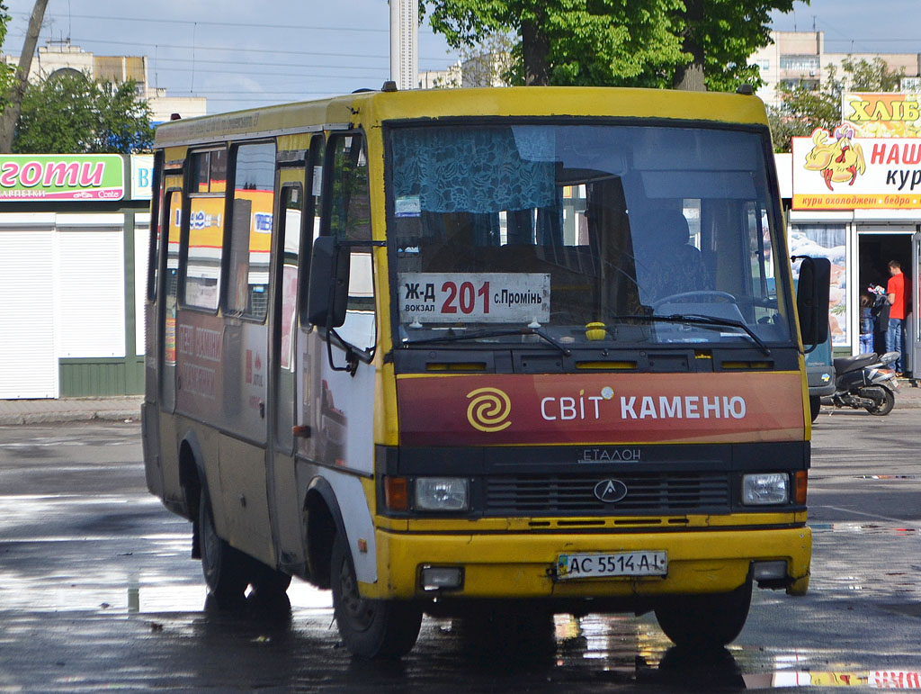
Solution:
<svg viewBox="0 0 921 694"><path fill-rule="evenodd" d="M33 0L0 0L3 52L18 57ZM740 0L742 2L743 0ZM921 53L918 0L812 0L774 15L774 28L825 32L833 53ZM208 99L208 112L379 88L390 76L387 0L49 0L39 45L53 39L97 55L148 57L151 86ZM419 69L458 59L427 23Z"/></svg>

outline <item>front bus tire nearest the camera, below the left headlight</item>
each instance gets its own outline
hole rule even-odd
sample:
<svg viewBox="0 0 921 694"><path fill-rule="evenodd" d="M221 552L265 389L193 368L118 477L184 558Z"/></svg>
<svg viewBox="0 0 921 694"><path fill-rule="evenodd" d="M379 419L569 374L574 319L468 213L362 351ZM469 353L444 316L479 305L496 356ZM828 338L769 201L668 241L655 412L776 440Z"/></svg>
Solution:
<svg viewBox="0 0 921 694"><path fill-rule="evenodd" d="M358 593L352 555L343 535L332 541L332 611L345 647L366 658L399 658L419 638L422 610L396 600L367 600Z"/></svg>

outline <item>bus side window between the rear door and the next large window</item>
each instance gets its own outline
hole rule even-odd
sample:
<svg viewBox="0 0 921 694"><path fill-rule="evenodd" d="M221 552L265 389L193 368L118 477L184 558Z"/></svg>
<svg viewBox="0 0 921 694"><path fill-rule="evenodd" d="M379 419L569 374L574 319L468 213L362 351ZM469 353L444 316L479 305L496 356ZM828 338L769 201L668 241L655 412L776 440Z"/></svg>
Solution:
<svg viewBox="0 0 921 694"><path fill-rule="evenodd" d="M191 176L189 237L182 251L185 260L182 300L197 309L217 311L224 255L227 150L192 154Z"/></svg>

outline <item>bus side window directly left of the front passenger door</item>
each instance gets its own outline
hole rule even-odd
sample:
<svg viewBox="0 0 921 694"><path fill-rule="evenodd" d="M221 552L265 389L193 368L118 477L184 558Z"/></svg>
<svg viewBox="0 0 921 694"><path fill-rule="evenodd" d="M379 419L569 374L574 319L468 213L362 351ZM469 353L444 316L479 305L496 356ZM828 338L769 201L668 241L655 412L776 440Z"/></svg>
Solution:
<svg viewBox="0 0 921 694"><path fill-rule="evenodd" d="M272 249L274 143L240 145L233 168L227 311L264 321Z"/></svg>

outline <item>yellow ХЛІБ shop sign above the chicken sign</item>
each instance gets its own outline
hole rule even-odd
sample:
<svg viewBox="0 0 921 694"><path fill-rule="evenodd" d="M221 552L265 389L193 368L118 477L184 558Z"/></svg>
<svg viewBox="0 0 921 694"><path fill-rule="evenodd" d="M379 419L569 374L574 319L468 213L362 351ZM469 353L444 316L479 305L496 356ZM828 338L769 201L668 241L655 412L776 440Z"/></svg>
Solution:
<svg viewBox="0 0 921 694"><path fill-rule="evenodd" d="M921 136L921 93L870 94L845 91L841 122L857 137Z"/></svg>

